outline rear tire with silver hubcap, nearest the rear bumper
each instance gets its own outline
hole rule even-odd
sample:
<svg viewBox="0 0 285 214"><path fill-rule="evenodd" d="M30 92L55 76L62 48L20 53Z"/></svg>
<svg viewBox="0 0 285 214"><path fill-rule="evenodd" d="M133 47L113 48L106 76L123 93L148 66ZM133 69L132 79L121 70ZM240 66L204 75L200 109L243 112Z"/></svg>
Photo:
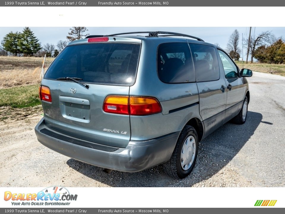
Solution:
<svg viewBox="0 0 285 214"><path fill-rule="evenodd" d="M178 137L170 160L164 163L165 171L175 178L187 177L194 168L197 154L197 132L192 126L186 125Z"/></svg>

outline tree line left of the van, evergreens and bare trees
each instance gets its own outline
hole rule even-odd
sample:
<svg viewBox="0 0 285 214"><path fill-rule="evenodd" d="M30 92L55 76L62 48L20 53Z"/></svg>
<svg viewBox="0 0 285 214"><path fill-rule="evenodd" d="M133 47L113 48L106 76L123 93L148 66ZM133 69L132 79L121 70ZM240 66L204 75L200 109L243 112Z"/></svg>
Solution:
<svg viewBox="0 0 285 214"><path fill-rule="evenodd" d="M66 36L68 40L59 40L55 45L46 43L41 45L39 39L34 35L29 27L25 27L22 32L9 32L1 41L0 56L36 56L36 57L56 57L69 43L69 41L75 41L82 39L89 35L84 34L88 31L86 27L72 27L69 36Z"/></svg>

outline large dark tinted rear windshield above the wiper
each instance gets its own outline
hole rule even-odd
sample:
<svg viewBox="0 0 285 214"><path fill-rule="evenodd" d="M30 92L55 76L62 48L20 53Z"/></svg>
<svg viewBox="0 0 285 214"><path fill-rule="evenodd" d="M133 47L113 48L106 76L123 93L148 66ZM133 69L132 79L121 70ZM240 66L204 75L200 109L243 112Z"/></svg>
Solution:
<svg viewBox="0 0 285 214"><path fill-rule="evenodd" d="M45 78L82 78L82 82L132 85L139 44L92 43L66 47L48 68Z"/></svg>

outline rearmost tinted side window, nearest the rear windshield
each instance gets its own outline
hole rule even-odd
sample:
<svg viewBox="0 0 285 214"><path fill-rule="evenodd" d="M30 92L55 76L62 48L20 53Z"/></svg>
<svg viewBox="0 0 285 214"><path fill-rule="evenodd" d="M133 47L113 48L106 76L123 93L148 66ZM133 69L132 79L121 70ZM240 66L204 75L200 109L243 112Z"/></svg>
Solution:
<svg viewBox="0 0 285 214"><path fill-rule="evenodd" d="M157 51L157 73L165 83L195 82L188 43L163 43Z"/></svg>

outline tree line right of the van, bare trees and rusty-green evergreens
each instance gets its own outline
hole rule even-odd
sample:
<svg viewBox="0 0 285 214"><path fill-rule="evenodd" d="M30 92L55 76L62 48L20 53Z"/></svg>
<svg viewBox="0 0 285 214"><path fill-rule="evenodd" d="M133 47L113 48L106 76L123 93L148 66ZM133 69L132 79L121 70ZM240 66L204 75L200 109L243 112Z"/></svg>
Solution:
<svg viewBox="0 0 285 214"><path fill-rule="evenodd" d="M246 63L248 63L248 55L251 55L250 62L256 59L261 63L281 64L285 63L285 43L282 37L276 38L269 31L264 31L259 34L251 34L243 39L243 45L246 51ZM230 35L227 48L228 54L232 59L239 60L240 49L240 34L237 29Z"/></svg>

